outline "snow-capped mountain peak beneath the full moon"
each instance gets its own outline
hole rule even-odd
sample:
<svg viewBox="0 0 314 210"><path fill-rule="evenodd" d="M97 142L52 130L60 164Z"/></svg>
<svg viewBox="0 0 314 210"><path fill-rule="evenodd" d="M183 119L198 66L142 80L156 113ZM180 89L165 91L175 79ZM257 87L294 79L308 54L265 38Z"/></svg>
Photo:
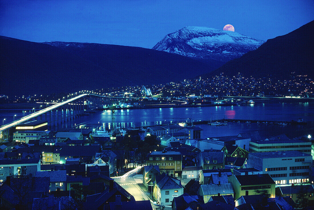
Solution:
<svg viewBox="0 0 314 210"><path fill-rule="evenodd" d="M227 62L264 43L233 31L187 26L158 42L152 49L207 61Z"/></svg>

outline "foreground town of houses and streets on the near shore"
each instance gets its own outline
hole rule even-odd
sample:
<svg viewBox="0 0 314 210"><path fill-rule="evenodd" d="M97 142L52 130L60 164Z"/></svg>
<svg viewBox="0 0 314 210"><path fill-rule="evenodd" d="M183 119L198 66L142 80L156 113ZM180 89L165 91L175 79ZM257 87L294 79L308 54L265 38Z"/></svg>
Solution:
<svg viewBox="0 0 314 210"><path fill-rule="evenodd" d="M310 209L314 139L201 139L168 124L112 131L16 126L1 142L1 209Z"/></svg>

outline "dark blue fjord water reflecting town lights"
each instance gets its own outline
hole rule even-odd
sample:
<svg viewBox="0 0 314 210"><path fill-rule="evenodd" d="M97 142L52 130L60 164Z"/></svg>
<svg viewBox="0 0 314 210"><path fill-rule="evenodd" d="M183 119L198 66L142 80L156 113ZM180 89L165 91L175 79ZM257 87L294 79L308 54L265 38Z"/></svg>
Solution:
<svg viewBox="0 0 314 210"><path fill-rule="evenodd" d="M27 109L24 109L27 110ZM37 109L38 110L38 109ZM26 114L31 113L28 109ZM308 135L313 133L314 103L313 102L258 102L252 105L220 106L220 107L189 107L189 108L154 108L116 110L115 122L124 128L180 123L201 120L242 119L242 120L268 120L291 121L303 118L309 122L307 125L279 126L275 124L245 124L228 123L227 126L198 125L203 129L202 138L237 135L241 132L259 131L263 136L278 135L282 133L291 136ZM6 118L5 123L23 117L23 109L0 109L0 119ZM99 122L99 123L98 123ZM56 124L51 130L70 128L76 125L79 128L95 128L105 126L111 128L111 111L97 111L89 116L81 116L69 121Z"/></svg>

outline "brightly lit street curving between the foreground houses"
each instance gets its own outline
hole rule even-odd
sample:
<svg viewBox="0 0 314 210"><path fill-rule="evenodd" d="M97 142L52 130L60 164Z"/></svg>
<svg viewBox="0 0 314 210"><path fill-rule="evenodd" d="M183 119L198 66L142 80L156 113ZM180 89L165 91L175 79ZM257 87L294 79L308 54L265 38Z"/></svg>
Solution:
<svg viewBox="0 0 314 210"><path fill-rule="evenodd" d="M132 171L127 172L123 176L118 177L111 177L115 180L116 183L118 183L120 186L122 186L127 192L129 192L136 201L144 201L144 200L150 200L146 194L142 191L142 189L137 185L140 183L143 183L143 176L137 175L136 172L139 171L139 167L135 168ZM151 205L153 209L157 209L158 206L155 206L152 201L150 200ZM166 207L165 210L171 210L172 208Z"/></svg>

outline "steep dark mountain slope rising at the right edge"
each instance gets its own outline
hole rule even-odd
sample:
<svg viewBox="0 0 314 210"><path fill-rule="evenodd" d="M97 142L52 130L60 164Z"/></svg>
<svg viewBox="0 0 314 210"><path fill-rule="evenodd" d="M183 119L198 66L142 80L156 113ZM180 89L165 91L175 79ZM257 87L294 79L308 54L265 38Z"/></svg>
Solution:
<svg viewBox="0 0 314 210"><path fill-rule="evenodd" d="M314 78L314 21L289 34L268 39L257 50L227 62L205 76L235 75L285 77L291 72Z"/></svg>

